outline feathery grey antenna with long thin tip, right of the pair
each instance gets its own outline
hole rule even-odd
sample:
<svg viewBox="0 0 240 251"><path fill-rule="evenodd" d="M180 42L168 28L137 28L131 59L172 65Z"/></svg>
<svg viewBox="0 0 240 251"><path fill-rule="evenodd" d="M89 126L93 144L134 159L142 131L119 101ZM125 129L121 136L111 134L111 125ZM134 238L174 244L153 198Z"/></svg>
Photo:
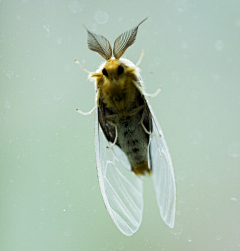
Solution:
<svg viewBox="0 0 240 251"><path fill-rule="evenodd" d="M147 18L145 18L141 23L143 23L146 19ZM126 51L126 49L134 43L140 24L138 24L132 30L124 32L115 40L113 47L113 55L116 59L119 59Z"/></svg>

